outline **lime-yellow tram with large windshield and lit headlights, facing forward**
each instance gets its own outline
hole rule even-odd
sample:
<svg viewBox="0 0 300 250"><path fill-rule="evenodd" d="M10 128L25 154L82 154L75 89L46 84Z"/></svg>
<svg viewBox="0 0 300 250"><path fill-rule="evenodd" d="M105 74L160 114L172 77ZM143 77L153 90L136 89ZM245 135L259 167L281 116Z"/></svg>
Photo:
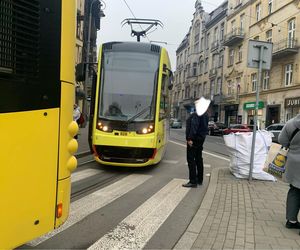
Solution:
<svg viewBox="0 0 300 250"><path fill-rule="evenodd" d="M168 53L161 46L141 42L101 45L89 125L96 161L143 167L162 159L169 135L170 68Z"/></svg>

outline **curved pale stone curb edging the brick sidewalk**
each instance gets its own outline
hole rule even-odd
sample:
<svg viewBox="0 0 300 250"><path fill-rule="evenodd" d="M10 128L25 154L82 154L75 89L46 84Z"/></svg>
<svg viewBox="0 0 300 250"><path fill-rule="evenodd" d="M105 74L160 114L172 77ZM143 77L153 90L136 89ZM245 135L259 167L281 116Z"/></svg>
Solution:
<svg viewBox="0 0 300 250"><path fill-rule="evenodd" d="M222 169L227 168L214 168L212 170L208 188L201 203L201 206L194 218L192 219L191 223L189 224L187 230L181 236L181 238L179 239L179 241L173 249L191 249L194 242L197 240L197 237L210 211L213 198L217 189L219 170Z"/></svg>

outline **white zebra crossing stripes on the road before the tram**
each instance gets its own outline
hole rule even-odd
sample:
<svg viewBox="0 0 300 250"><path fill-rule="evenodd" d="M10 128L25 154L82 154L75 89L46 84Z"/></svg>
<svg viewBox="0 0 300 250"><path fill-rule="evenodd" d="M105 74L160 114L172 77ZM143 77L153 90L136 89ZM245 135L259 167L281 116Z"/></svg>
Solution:
<svg viewBox="0 0 300 250"><path fill-rule="evenodd" d="M165 163L176 164L176 161L165 160ZM103 172L105 170L94 168L77 171L71 176L72 185ZM85 230L80 228L81 221L133 190L141 189L146 182L153 179L151 174L132 173L73 201L70 205L68 220L61 227L28 242L25 246L39 249L46 241L48 245L51 245L51 240L54 241L57 235L63 238L64 232L70 228L79 227L79 231ZM187 179L179 178L168 180L150 198L145 199L141 205L120 221L115 228L95 238L88 249L142 249L190 191L182 187L182 184L187 181ZM72 241L72 239L68 240Z"/></svg>

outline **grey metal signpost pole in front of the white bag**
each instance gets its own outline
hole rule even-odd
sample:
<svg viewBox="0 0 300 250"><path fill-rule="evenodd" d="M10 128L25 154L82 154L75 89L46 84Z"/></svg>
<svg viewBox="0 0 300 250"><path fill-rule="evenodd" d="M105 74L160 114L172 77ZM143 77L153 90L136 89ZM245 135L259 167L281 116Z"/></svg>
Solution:
<svg viewBox="0 0 300 250"><path fill-rule="evenodd" d="M259 68L258 68L258 81L256 84L256 104L255 104L255 115L254 115L254 128L252 135L252 145L251 145L251 157L250 157L250 170L249 170L249 181L252 181L252 172L254 165L254 152L255 152L255 139L256 139L256 126L257 126L257 113L258 113L258 103L259 103L259 88L261 84L261 75L262 75L262 64L263 64L263 55L264 55L264 45L257 46L259 47Z"/></svg>

